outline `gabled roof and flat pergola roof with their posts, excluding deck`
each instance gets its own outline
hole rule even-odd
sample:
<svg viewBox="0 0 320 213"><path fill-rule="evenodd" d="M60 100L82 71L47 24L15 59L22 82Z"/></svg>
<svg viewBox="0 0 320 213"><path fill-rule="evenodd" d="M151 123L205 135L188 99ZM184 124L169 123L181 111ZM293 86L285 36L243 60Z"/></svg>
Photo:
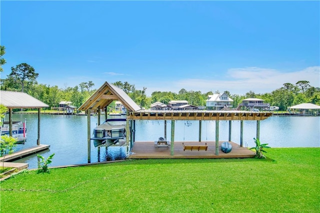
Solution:
<svg viewBox="0 0 320 213"><path fill-rule="evenodd" d="M256 138L260 134L260 121L272 115L272 112L255 111L212 111L212 110L142 110L140 107L120 88L105 82L94 94L91 95L80 107L87 114L87 147L88 162L90 162L90 113L91 110L98 112L97 124L100 124L100 110L106 107L113 100L119 100L127 108L126 112L126 151L127 156L133 147L135 134L135 120L164 120L164 137L166 137L166 121L171 120L171 141L170 155L174 155L174 121L175 120L198 120L199 121L199 141L201 141L201 121L215 121L215 144L210 150L219 155L219 121L229 120L229 141L231 141L231 121L240 120L240 146L243 146L243 120L256 120ZM105 113L106 114L106 113ZM99 147L98 147L99 148Z"/></svg>

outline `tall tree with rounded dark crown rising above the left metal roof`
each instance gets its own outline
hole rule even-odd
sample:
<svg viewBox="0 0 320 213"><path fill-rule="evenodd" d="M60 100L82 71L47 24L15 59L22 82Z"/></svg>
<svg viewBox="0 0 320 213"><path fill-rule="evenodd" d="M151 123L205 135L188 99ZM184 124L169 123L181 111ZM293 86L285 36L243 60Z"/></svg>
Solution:
<svg viewBox="0 0 320 213"><path fill-rule="evenodd" d="M21 91L24 91L25 84L36 83L38 73L34 71L34 68L27 63L20 63L15 67L11 67L11 73L8 75L9 78L18 82L21 85Z"/></svg>

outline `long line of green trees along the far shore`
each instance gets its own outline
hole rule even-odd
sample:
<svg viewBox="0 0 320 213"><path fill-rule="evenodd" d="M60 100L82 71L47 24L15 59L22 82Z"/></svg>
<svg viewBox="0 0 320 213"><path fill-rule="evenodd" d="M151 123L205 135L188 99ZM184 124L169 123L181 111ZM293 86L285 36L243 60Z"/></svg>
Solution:
<svg viewBox="0 0 320 213"><path fill-rule="evenodd" d="M4 46L1 46L1 65L6 62L2 57L5 53L4 50ZM0 68L0 71L2 71L2 68ZM15 67L12 66L10 74L0 80L1 90L26 92L48 104L49 107L57 107L62 100L71 101L72 105L79 107L96 91L96 89L92 89L94 86L92 81L81 82L74 87L65 85L64 88L58 88L56 85L50 86L37 83L36 78L38 75L34 68L27 63L20 63ZM130 84L127 81L116 81L113 84L123 89L141 108L149 108L150 104L156 101L167 104L170 100L187 100L189 104L205 106L205 100L208 95L213 94L212 91L202 93L201 91L187 91L182 88L178 93L153 91L151 96L147 96L145 93L146 87L143 87L142 90L136 89L134 84ZM245 94L239 95L230 94L227 90L224 92L233 99L232 107L234 108L237 107L242 99L249 97L263 99L264 102L270 103L270 105L278 106L279 110L286 110L289 106L304 102L320 105L320 88L310 85L307 80L299 80L295 84L283 83L282 87L268 93L254 93L254 91L249 90ZM220 92L215 91L214 93ZM114 103L110 104L109 107L114 107Z"/></svg>

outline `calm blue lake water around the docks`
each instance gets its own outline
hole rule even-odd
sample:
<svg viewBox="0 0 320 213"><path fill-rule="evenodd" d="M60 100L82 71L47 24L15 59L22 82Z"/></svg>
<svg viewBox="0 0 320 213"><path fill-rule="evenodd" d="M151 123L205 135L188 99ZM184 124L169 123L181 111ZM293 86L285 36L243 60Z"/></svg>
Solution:
<svg viewBox="0 0 320 213"><path fill-rule="evenodd" d="M116 116L119 117L119 116ZM15 150L36 145L37 115L13 114L13 120L26 118L27 141ZM110 118L110 117L109 117ZM6 120L8 116L6 116ZM41 114L40 143L49 144L48 150L39 152L44 157L55 153L50 166L80 164L87 162L87 118L79 115ZM101 123L104 115L101 115ZM197 141L199 121L175 121L175 141ZM97 117L91 116L91 133ZM319 116L271 116L260 122L260 141L271 147L319 147ZM170 121L167 121L167 139L170 140ZM153 141L164 136L164 121L136 120L136 141ZM243 145L254 146L256 121L243 121ZM202 121L202 141L215 141L215 121ZM219 140L228 140L228 121L219 121ZM231 140L240 143L240 121L232 121ZM97 148L91 142L91 162L122 159L124 147ZM37 168L36 154L14 162L25 162L29 168Z"/></svg>

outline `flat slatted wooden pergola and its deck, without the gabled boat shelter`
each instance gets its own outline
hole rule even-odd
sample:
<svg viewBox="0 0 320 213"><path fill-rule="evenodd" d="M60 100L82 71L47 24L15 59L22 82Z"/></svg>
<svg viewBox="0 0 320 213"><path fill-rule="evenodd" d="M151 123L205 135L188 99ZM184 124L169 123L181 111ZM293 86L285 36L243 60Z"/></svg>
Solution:
<svg viewBox="0 0 320 213"><path fill-rule="evenodd" d="M144 155L153 156L155 158L159 158L159 156L162 156L161 154L157 152L165 152L166 154L170 152L170 156L166 156L165 158L224 158L224 157L252 157L254 156L254 152L243 147L243 120L255 120L256 121L256 138L259 138L260 135L260 121L268 118L272 115L272 112L253 112L253 111L212 111L212 110L139 110L139 111L130 111L127 114L127 120L164 120L164 137L166 137L166 120L171 120L171 140L170 140L170 147L166 150L159 150L158 147L149 147L149 148L143 148L143 145L148 145L148 143L141 143L131 141L132 144L132 153L138 153L138 154L132 154L130 155L130 158L139 158ZM183 142L181 141L174 141L174 121L175 120L198 120L199 121L199 139L198 141L189 141L189 142ZM207 148L204 150L204 142L201 142L201 121L202 120L214 120L215 121L215 141L206 142ZM240 145L231 142L232 144L232 151L229 153L223 153L221 148L221 143L223 141L219 141L219 121L220 120L229 120L229 136L228 141L232 141L232 135L231 135L231 128L232 128L232 120L240 120ZM134 127L133 127L134 128ZM134 133L134 131L133 131ZM138 132L137 132L138 133ZM137 145L138 144L138 145ZM183 147L184 145L184 147ZM138 146L138 147L136 147ZM154 146L154 145L153 145ZM186 146L186 147L185 147ZM191 146L199 146L195 147L194 150ZM234 146L234 147L233 147ZM145 152L150 154L144 154L140 152L138 149L142 149ZM196 150L196 148L200 150ZM183 149L187 149L183 151ZM182 150L182 152L181 152ZM187 152L186 152L187 151ZM152 153L152 154L151 154ZM163 157L163 156L162 156ZM152 157L149 157L152 158Z"/></svg>

